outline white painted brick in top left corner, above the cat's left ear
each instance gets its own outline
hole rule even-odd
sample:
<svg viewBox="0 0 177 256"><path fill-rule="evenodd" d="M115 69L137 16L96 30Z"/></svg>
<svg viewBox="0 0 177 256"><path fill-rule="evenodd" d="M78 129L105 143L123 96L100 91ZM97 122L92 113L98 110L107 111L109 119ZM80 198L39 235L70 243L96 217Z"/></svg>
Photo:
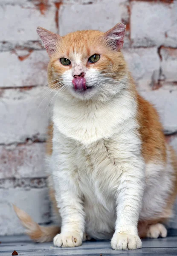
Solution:
<svg viewBox="0 0 177 256"><path fill-rule="evenodd" d="M33 1L31 1L30 6L25 4L24 6L0 6L0 24L3 24L3 26L0 26L0 40L39 40L36 33L37 26L56 32L55 11L55 4L52 4L42 14L38 6L33 4Z"/></svg>

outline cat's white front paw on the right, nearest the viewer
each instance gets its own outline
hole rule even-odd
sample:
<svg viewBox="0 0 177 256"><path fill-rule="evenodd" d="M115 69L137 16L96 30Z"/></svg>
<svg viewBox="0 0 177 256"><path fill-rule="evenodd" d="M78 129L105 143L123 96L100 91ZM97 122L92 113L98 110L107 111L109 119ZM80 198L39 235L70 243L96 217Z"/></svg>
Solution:
<svg viewBox="0 0 177 256"><path fill-rule="evenodd" d="M111 247L114 250L136 250L142 247L142 241L139 236L129 233L114 233Z"/></svg>

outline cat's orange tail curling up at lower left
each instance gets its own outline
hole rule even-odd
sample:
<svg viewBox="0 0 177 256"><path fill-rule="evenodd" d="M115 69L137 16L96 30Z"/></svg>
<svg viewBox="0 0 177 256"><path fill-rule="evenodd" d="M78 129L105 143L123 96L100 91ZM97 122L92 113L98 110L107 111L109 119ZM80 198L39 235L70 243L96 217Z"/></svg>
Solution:
<svg viewBox="0 0 177 256"><path fill-rule="evenodd" d="M36 242L52 241L54 236L60 233L60 228L56 226L43 227L32 220L32 218L23 210L13 205L14 210L23 226L26 228L26 234Z"/></svg>

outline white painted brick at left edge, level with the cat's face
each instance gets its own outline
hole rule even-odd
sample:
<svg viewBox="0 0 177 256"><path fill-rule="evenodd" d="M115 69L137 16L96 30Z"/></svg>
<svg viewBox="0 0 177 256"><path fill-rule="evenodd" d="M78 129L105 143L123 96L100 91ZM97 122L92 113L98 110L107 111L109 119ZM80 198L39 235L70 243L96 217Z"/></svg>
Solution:
<svg viewBox="0 0 177 256"><path fill-rule="evenodd" d="M20 61L20 57L24 59ZM0 87L46 84L48 61L49 58L45 50L1 52Z"/></svg>

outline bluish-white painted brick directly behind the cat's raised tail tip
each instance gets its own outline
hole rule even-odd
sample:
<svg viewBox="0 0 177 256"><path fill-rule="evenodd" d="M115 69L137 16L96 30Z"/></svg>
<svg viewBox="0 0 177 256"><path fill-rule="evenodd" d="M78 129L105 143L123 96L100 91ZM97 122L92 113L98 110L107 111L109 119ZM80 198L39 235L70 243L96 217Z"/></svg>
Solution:
<svg viewBox="0 0 177 256"><path fill-rule="evenodd" d="M0 189L0 235L24 232L12 204L23 209L38 223L49 222L48 189Z"/></svg>

